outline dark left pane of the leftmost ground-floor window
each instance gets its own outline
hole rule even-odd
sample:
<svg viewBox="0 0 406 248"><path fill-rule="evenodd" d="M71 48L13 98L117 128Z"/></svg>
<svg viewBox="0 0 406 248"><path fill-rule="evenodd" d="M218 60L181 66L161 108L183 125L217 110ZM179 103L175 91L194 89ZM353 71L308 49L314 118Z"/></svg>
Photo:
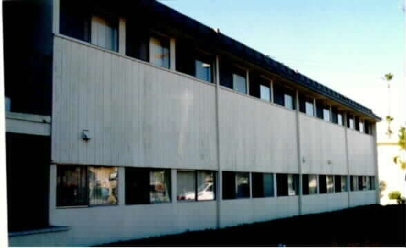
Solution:
<svg viewBox="0 0 406 248"><path fill-rule="evenodd" d="M88 167L57 167L57 206L88 205Z"/></svg>

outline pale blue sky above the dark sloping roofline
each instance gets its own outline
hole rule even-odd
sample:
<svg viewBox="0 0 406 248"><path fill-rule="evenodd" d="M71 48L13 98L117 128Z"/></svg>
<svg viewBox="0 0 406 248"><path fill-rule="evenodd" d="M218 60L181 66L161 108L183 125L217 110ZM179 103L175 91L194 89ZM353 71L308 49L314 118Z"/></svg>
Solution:
<svg viewBox="0 0 406 248"><path fill-rule="evenodd" d="M405 122L403 0L161 2L220 28L380 116L387 115L387 88L381 78L392 72L392 116Z"/></svg>

